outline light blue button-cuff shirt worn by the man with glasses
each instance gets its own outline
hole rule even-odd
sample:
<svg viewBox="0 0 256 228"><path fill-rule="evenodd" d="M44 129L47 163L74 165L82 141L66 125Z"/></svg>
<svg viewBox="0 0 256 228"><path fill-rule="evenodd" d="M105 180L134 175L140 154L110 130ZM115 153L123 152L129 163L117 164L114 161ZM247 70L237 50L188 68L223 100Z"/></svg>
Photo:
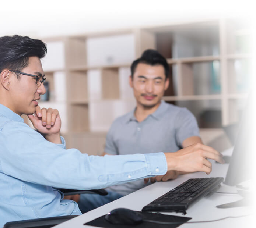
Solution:
<svg viewBox="0 0 256 228"><path fill-rule="evenodd" d="M164 175L164 153L88 156L48 142L0 104L0 227L8 221L79 215L55 188L99 189Z"/></svg>

